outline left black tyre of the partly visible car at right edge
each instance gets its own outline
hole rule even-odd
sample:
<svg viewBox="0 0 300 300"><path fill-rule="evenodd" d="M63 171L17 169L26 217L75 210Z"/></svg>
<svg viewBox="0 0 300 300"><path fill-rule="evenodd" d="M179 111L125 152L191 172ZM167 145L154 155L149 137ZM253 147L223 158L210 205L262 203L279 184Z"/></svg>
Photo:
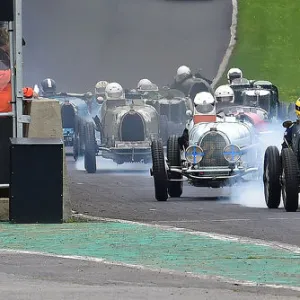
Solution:
<svg viewBox="0 0 300 300"><path fill-rule="evenodd" d="M280 204L281 161L277 147L269 146L264 157L264 193L268 208L278 208Z"/></svg>

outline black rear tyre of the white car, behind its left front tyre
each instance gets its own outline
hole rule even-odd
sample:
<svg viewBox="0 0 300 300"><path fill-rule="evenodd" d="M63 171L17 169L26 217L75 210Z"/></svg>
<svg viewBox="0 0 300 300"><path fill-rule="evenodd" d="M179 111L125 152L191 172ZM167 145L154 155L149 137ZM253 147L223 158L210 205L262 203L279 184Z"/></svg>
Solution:
<svg viewBox="0 0 300 300"><path fill-rule="evenodd" d="M180 158L180 147L178 144L178 136L172 135L168 139L167 143L167 158L170 166L180 167L181 158ZM182 175L179 173L172 173L170 179L182 179ZM170 197L180 197L182 195L182 181L169 181L168 183L168 193Z"/></svg>

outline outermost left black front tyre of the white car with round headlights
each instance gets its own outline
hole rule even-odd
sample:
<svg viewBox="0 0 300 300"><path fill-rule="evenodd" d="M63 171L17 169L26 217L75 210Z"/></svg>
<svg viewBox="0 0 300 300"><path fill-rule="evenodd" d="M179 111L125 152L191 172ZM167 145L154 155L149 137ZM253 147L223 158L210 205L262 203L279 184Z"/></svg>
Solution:
<svg viewBox="0 0 300 300"><path fill-rule="evenodd" d="M161 141L152 141L151 153L155 198L157 201L166 201L168 199L168 177L165 167L164 149Z"/></svg>

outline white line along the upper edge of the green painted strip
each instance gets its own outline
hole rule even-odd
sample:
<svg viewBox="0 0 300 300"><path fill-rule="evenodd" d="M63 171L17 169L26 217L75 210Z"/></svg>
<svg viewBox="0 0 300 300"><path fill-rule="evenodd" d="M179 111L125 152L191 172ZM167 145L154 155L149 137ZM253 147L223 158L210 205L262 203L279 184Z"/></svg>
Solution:
<svg viewBox="0 0 300 300"><path fill-rule="evenodd" d="M74 216L80 217L82 219L90 220L90 221L117 222L117 223L124 223L124 224L143 225L143 226L154 227L154 228L168 230L168 231L177 231L177 232L189 233L192 235L205 236L205 237L209 237L209 238L212 238L215 240L235 241L235 242L243 243L243 244L267 246L267 247L271 247L274 249L281 249L281 250L284 249L284 250L290 251L292 253L300 254L300 247L298 247L296 245L280 243L277 241L253 239L253 238L248 238L248 237L220 234L220 233L215 233L215 232L203 232L203 231L196 231L196 230L191 230L191 229L187 229L187 228L180 228L180 227L174 227L174 226L168 226L168 225L151 224L151 223L144 223L144 222L135 222L135 221L128 221L128 220L123 220L123 219L93 217L93 216L84 215L84 214L76 214Z"/></svg>

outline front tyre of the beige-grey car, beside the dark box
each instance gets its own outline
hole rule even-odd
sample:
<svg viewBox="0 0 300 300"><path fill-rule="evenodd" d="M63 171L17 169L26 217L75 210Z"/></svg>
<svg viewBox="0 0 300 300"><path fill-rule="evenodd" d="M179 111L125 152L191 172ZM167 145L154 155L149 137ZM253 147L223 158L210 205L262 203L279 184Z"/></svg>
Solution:
<svg viewBox="0 0 300 300"><path fill-rule="evenodd" d="M96 168L96 138L94 124L87 122L85 124L85 151L84 167L88 173L95 173Z"/></svg>

